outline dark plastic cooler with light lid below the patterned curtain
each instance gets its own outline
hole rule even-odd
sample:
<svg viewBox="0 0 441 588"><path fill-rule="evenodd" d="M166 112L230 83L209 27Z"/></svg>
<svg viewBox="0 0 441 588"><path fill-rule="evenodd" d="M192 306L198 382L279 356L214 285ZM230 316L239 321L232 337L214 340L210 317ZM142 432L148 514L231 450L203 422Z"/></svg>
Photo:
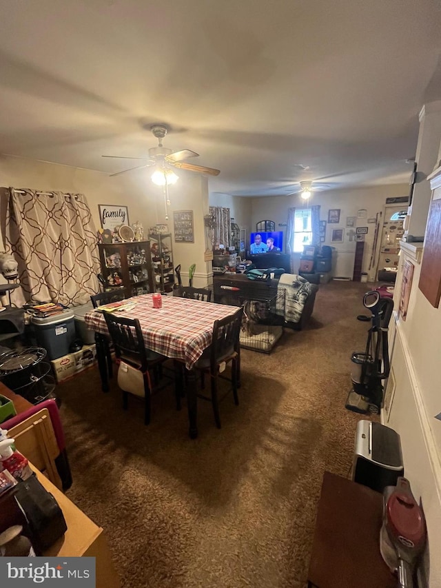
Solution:
<svg viewBox="0 0 441 588"><path fill-rule="evenodd" d="M69 347L76 338L74 311L67 308L59 314L40 318L31 317L37 343L48 352L49 359L57 359L69 353Z"/></svg>

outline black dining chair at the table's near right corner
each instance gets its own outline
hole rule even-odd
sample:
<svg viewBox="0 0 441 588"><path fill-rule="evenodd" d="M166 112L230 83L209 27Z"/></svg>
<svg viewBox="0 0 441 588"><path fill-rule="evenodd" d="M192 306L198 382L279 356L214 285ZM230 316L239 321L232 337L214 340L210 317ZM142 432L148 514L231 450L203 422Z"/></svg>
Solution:
<svg viewBox="0 0 441 588"><path fill-rule="evenodd" d="M211 396L198 394L198 398L212 402L214 420L218 429L220 429L218 378L231 381L234 403L236 405L239 403L237 389L240 374L239 334L242 317L243 307L240 307L234 314L214 321L212 345L205 349L195 365L196 369L201 371L201 375L209 374ZM232 363L231 377L227 377L224 370L225 365L230 362ZM204 378L201 378L201 385L204 387ZM225 396L226 394L223 398Z"/></svg>

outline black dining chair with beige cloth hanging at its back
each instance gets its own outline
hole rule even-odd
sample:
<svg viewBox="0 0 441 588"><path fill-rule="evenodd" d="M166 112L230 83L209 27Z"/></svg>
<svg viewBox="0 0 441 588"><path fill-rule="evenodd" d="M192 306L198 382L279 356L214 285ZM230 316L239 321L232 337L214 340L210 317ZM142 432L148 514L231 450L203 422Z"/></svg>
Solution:
<svg viewBox="0 0 441 588"><path fill-rule="evenodd" d="M123 392L123 409L128 408L129 394L145 398L144 423L150 423L150 396L164 387L158 385L156 367L167 357L145 347L141 325L137 318L124 318L104 312L105 322L115 349L118 385ZM155 373L156 372L156 373ZM172 378L167 379L172 380ZM176 404L181 408L181 396L176 392Z"/></svg>

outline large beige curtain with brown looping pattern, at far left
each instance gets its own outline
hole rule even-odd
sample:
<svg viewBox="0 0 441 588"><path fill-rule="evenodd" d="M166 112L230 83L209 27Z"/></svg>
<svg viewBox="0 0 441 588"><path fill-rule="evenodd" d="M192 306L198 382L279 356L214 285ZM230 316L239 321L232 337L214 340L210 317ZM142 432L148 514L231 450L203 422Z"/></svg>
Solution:
<svg viewBox="0 0 441 588"><path fill-rule="evenodd" d="M88 302L99 292L100 265L85 196L11 187L6 197L5 249L19 264L13 305Z"/></svg>

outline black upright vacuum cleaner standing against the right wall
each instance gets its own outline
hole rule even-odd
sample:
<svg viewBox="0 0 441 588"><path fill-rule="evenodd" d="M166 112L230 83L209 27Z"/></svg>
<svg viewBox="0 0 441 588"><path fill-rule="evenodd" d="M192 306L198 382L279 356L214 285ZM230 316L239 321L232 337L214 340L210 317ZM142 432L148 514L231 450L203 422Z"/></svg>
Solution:
<svg viewBox="0 0 441 588"><path fill-rule="evenodd" d="M378 414L383 400L382 380L389 376L390 369L387 332L393 301L380 296L377 290L371 290L363 296L363 305L371 311L371 327L365 351L351 355L352 388L346 408L361 414Z"/></svg>

